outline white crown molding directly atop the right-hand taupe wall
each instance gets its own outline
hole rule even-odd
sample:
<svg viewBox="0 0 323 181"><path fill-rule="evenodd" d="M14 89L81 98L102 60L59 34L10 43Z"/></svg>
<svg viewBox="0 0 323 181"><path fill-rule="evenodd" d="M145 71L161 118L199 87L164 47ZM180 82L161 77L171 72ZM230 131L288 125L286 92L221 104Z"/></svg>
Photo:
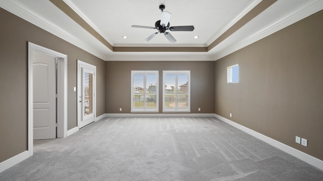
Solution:
<svg viewBox="0 0 323 181"><path fill-rule="evenodd" d="M284 17L274 21L274 23L260 29L254 34L242 39L241 41L234 43L221 51L217 52L214 56L214 60L219 60L237 50L240 50L266 36L269 36L279 30L286 28L320 10L323 9L323 1L321 0L311 0L305 3L303 6L295 9L294 11L288 13Z"/></svg>

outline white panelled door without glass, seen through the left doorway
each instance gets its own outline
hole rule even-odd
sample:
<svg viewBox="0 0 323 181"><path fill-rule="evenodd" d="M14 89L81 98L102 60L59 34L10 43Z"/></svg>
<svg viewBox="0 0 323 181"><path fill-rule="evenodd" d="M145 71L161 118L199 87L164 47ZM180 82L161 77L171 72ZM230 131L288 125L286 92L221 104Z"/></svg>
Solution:
<svg viewBox="0 0 323 181"><path fill-rule="evenodd" d="M55 57L33 52L33 138L56 138Z"/></svg>

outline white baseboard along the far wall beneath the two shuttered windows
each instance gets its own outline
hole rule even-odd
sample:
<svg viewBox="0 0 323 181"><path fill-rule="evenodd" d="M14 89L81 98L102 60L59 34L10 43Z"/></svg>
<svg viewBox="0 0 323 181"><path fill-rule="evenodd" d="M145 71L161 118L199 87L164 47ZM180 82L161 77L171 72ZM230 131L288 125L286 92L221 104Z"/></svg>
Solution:
<svg viewBox="0 0 323 181"><path fill-rule="evenodd" d="M130 113L130 114L105 114L104 117L214 117L213 113L201 113L201 114L188 114L188 113L176 113L176 114L144 114L144 113Z"/></svg>

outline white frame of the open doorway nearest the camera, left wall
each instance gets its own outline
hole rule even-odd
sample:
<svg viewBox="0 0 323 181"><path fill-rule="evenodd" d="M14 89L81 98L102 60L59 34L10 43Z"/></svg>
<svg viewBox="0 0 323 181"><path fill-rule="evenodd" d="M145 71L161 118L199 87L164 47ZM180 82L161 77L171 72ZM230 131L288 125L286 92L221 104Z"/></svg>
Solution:
<svg viewBox="0 0 323 181"><path fill-rule="evenodd" d="M58 59L57 69L57 137L67 136L67 55L28 42L28 152L33 155L33 52Z"/></svg>

